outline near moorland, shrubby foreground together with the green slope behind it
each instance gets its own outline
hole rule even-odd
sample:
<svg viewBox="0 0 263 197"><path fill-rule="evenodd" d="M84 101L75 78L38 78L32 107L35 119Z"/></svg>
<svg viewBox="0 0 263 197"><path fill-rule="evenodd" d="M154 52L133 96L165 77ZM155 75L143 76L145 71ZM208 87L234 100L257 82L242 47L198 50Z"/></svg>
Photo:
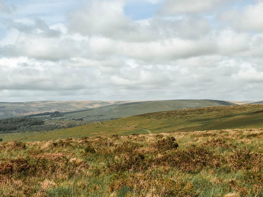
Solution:
<svg viewBox="0 0 263 197"><path fill-rule="evenodd" d="M0 138L0 197L263 196L262 104Z"/></svg>

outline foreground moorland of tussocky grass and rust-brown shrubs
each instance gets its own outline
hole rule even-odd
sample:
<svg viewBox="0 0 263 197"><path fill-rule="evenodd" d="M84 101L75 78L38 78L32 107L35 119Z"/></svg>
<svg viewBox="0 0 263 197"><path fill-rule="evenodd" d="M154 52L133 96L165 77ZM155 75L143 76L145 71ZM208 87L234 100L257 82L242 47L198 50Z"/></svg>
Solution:
<svg viewBox="0 0 263 197"><path fill-rule="evenodd" d="M0 196L262 196L263 130L0 145Z"/></svg>

